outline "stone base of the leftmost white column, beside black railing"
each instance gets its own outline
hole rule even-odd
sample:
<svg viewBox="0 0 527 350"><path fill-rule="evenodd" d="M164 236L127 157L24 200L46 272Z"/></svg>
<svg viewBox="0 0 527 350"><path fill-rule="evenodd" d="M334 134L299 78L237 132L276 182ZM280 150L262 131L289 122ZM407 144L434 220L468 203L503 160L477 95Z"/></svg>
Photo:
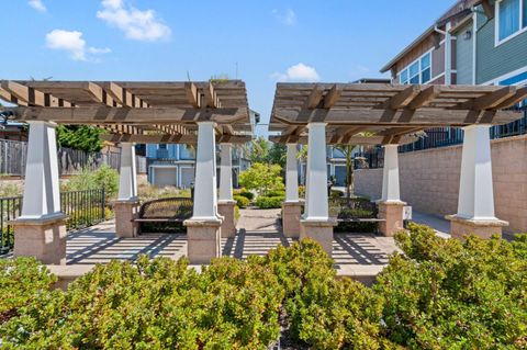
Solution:
<svg viewBox="0 0 527 350"><path fill-rule="evenodd" d="M34 257L44 264L66 264L66 219L64 214L12 222L14 257Z"/></svg>

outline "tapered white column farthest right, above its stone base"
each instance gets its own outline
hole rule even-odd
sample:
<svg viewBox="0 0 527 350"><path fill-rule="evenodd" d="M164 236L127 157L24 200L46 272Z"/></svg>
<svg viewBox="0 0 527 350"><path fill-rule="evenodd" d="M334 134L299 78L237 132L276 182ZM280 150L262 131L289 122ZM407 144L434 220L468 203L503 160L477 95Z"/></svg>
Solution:
<svg viewBox="0 0 527 350"><path fill-rule="evenodd" d="M458 217L496 219L489 128L486 125L463 127Z"/></svg>

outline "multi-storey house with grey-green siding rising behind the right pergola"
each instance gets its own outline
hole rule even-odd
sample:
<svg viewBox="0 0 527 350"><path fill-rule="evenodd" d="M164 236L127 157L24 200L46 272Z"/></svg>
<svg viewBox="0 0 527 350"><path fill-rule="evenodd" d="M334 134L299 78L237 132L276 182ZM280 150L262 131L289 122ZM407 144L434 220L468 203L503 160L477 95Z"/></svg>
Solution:
<svg viewBox="0 0 527 350"><path fill-rule="evenodd" d="M393 83L527 84L527 0L461 0L390 60ZM525 102L518 108L525 109ZM491 137L527 133L527 114ZM461 129L430 128L402 151L460 144Z"/></svg>

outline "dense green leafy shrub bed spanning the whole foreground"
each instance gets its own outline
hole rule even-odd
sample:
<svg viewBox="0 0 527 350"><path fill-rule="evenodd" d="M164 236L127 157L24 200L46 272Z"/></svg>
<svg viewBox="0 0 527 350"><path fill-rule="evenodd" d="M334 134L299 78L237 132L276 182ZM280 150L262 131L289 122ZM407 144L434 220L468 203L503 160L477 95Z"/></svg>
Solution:
<svg viewBox="0 0 527 350"><path fill-rule="evenodd" d="M312 240L201 273L186 259L111 262L52 290L33 259L0 261L7 349L524 349L527 236L466 242L412 225L365 286Z"/></svg>

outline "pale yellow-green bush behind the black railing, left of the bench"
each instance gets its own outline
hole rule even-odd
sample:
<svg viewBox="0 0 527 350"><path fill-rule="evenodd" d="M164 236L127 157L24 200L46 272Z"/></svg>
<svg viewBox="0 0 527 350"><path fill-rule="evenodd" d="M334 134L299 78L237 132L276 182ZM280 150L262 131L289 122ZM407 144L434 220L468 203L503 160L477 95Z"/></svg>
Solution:
<svg viewBox="0 0 527 350"><path fill-rule="evenodd" d="M104 189L108 197L115 197L119 191L119 172L108 165L97 170L83 169L64 185L65 191L86 191Z"/></svg>

